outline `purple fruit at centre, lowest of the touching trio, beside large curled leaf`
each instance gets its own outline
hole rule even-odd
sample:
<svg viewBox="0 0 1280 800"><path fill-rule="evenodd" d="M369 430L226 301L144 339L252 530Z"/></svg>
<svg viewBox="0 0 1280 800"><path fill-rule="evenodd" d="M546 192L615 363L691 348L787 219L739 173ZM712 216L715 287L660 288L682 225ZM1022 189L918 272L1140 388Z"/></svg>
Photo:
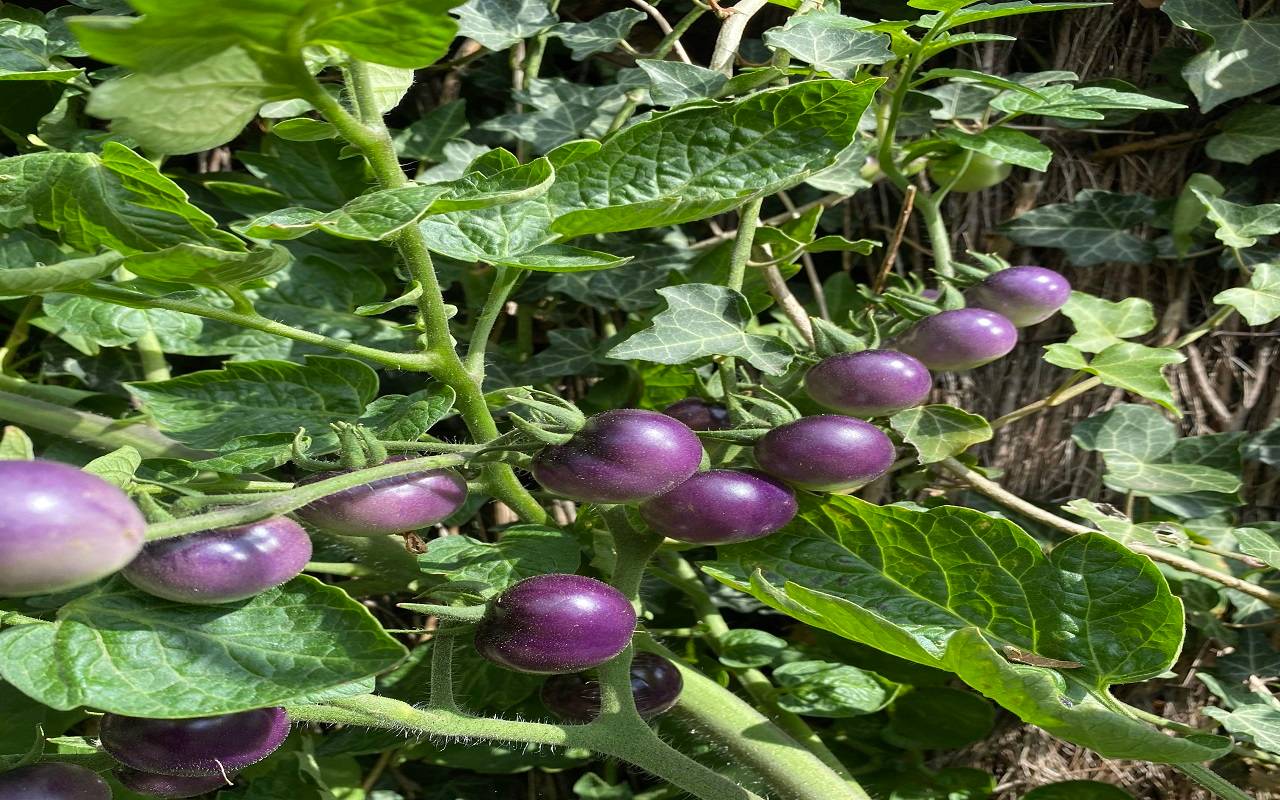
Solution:
<svg viewBox="0 0 1280 800"><path fill-rule="evenodd" d="M694 544L730 544L768 536L796 516L796 498L762 472L698 472L640 504L655 532Z"/></svg>

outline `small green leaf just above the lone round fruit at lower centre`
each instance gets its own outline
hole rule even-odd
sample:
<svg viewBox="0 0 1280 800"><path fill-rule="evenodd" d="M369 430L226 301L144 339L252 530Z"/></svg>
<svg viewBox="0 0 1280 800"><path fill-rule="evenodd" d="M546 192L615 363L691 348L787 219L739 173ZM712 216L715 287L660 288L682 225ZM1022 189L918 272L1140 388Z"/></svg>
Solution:
<svg viewBox="0 0 1280 800"><path fill-rule="evenodd" d="M493 596L507 586L535 575L577 571L577 539L545 525L513 525L498 541L471 536L440 536L417 557L419 568L448 582L433 595L479 594Z"/></svg>

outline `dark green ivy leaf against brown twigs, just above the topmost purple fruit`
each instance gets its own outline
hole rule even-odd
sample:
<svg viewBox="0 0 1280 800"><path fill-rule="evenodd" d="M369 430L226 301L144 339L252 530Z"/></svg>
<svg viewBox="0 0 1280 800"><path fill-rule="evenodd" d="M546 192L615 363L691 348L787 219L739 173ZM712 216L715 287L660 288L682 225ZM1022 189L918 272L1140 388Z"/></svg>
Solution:
<svg viewBox="0 0 1280 800"><path fill-rule="evenodd" d="M1065 250L1068 261L1075 266L1107 261L1147 264L1156 256L1156 246L1132 229L1155 215L1156 206L1144 195L1084 189L1073 202L1033 209L1000 230L1019 244Z"/></svg>

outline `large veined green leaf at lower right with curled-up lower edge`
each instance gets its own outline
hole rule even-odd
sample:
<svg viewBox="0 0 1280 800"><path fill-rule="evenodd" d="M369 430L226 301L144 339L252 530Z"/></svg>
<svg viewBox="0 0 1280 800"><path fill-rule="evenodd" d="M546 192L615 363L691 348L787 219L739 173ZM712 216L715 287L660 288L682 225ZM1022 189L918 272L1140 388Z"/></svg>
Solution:
<svg viewBox="0 0 1280 800"><path fill-rule="evenodd" d="M955 672L1105 756L1206 760L1229 748L1107 708L1110 685L1174 663L1184 622L1156 566L1101 534L1044 556L1007 520L968 508L806 497L780 534L719 548L707 571L808 625ZM1042 659L1059 667L1027 663Z"/></svg>

